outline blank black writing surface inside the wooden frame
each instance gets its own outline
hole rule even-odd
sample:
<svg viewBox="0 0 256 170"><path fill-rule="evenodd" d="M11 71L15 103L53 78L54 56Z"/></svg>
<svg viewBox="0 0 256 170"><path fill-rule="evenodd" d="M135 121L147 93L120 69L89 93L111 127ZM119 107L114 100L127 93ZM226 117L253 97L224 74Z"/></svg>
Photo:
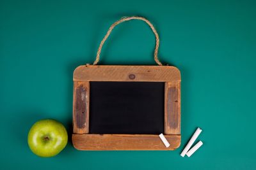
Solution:
<svg viewBox="0 0 256 170"><path fill-rule="evenodd" d="M164 82L90 82L89 134L164 132Z"/></svg>

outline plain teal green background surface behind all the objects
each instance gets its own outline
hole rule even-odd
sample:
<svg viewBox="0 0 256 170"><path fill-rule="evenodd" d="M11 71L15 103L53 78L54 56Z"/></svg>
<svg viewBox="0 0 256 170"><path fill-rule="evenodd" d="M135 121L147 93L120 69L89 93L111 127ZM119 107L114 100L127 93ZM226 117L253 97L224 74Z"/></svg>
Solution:
<svg viewBox="0 0 256 170"><path fill-rule="evenodd" d="M0 169L256 169L256 1L0 1ZM182 74L182 144L173 152L81 152L28 148L34 122L72 131L72 73L92 63L108 27L147 17L159 59ZM118 25L100 64L156 65L142 21ZM204 145L180 157L196 127Z"/></svg>

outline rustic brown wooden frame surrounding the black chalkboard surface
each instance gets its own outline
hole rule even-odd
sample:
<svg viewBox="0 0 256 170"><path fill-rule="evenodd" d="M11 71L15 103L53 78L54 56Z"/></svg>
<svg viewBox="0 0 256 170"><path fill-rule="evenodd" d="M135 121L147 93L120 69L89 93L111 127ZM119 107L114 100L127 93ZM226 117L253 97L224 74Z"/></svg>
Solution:
<svg viewBox="0 0 256 170"><path fill-rule="evenodd" d="M78 150L175 150L180 146L180 71L173 66L79 66L74 71L73 135ZM90 81L165 82L166 148L153 134L88 134Z"/></svg>

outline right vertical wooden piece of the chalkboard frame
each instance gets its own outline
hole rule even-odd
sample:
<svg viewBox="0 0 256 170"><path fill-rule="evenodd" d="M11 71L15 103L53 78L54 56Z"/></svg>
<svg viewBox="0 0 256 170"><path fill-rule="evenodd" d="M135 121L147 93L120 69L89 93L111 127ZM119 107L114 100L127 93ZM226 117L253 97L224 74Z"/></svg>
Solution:
<svg viewBox="0 0 256 170"><path fill-rule="evenodd" d="M164 134L180 134L180 81L165 83Z"/></svg>

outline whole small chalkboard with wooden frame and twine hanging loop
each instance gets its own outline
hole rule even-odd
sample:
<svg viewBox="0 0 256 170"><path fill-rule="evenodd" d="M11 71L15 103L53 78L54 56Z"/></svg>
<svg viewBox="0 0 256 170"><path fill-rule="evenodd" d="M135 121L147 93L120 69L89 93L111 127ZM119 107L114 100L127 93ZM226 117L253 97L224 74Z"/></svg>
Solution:
<svg viewBox="0 0 256 170"><path fill-rule="evenodd" d="M99 66L100 51L115 25L138 19L156 36L159 66ZM93 65L74 71L73 135L78 150L175 150L180 146L180 71L157 58L159 37L143 17L109 28ZM159 138L170 143L166 148Z"/></svg>

